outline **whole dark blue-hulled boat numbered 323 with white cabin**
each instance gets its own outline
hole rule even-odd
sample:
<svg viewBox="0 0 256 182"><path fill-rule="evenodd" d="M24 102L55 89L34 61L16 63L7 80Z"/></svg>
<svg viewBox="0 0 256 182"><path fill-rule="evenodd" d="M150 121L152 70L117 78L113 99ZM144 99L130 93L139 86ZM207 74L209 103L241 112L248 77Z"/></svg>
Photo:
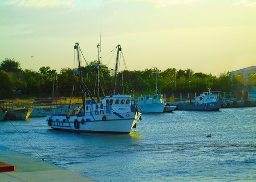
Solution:
<svg viewBox="0 0 256 182"><path fill-rule="evenodd" d="M222 101L218 99L217 94L203 92L200 96L188 99L185 104L178 104L177 110L194 110L194 111L218 111L221 108Z"/></svg>

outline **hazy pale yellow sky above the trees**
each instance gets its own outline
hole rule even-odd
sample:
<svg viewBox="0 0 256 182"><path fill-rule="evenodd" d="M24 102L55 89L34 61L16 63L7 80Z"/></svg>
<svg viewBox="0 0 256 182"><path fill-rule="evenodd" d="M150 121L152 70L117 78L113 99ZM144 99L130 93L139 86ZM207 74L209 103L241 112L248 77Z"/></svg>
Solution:
<svg viewBox="0 0 256 182"><path fill-rule="evenodd" d="M0 61L22 69L74 68L75 42L96 60L100 34L103 64L120 44L128 70L219 75L256 66L256 0L0 0Z"/></svg>

